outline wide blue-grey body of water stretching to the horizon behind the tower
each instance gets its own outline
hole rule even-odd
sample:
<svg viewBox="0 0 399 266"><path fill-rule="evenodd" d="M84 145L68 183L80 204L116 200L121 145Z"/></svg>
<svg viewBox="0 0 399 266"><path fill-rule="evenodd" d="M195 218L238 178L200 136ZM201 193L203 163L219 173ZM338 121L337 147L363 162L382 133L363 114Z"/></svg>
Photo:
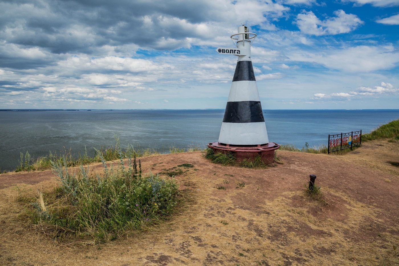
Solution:
<svg viewBox="0 0 399 266"><path fill-rule="evenodd" d="M47 156L71 149L94 155L94 148L121 146L205 148L217 141L224 110L35 110L0 111L0 170L14 170L20 153ZM399 119L395 110L264 110L269 141L302 148L327 145L328 134L362 130Z"/></svg>

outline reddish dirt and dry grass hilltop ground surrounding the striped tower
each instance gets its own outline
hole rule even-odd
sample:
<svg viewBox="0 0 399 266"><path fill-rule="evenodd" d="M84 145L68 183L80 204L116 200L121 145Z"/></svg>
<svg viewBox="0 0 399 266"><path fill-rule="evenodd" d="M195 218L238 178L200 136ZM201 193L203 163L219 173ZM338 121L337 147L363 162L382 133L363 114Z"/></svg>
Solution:
<svg viewBox="0 0 399 266"><path fill-rule="evenodd" d="M61 243L19 222L18 193L51 190L51 171L2 174L0 265L399 265L398 150L385 140L346 155L278 151L283 164L256 170L201 152L144 157L144 172L193 164L176 176L193 199L163 224L101 245ZM310 174L325 202L304 196Z"/></svg>

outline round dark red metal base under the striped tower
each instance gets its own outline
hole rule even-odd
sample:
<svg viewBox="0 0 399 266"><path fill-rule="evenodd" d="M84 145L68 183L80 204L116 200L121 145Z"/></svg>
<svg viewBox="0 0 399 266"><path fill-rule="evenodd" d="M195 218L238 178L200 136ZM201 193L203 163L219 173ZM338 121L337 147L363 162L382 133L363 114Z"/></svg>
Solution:
<svg viewBox="0 0 399 266"><path fill-rule="evenodd" d="M250 160L256 156L261 156L265 163L273 163L275 157L275 150L280 148L280 145L274 142L269 142L262 145L254 146L234 146L229 144L223 144L219 142L209 143L207 145L212 148L215 153L220 152L232 152L235 155L237 162L241 162L244 159Z"/></svg>

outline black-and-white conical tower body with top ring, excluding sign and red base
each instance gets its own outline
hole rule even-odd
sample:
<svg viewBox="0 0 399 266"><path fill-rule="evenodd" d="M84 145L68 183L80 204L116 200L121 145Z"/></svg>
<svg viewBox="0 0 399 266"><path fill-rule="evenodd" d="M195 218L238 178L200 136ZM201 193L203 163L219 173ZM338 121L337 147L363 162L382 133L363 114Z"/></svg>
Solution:
<svg viewBox="0 0 399 266"><path fill-rule="evenodd" d="M251 35L254 36L250 37ZM228 145L269 143L251 61L251 39L255 37L256 34L249 32L245 26L238 27L238 34L231 36L233 40L237 40L237 48L246 50L246 53L238 56L220 129L219 143Z"/></svg>

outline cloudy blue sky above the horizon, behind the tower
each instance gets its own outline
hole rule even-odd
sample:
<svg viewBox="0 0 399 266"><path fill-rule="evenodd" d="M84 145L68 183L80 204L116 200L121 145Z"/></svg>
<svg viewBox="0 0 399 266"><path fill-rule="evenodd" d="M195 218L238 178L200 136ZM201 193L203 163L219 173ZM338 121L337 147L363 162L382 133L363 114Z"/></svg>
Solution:
<svg viewBox="0 0 399 266"><path fill-rule="evenodd" d="M399 109L399 0L0 0L0 109Z"/></svg>

